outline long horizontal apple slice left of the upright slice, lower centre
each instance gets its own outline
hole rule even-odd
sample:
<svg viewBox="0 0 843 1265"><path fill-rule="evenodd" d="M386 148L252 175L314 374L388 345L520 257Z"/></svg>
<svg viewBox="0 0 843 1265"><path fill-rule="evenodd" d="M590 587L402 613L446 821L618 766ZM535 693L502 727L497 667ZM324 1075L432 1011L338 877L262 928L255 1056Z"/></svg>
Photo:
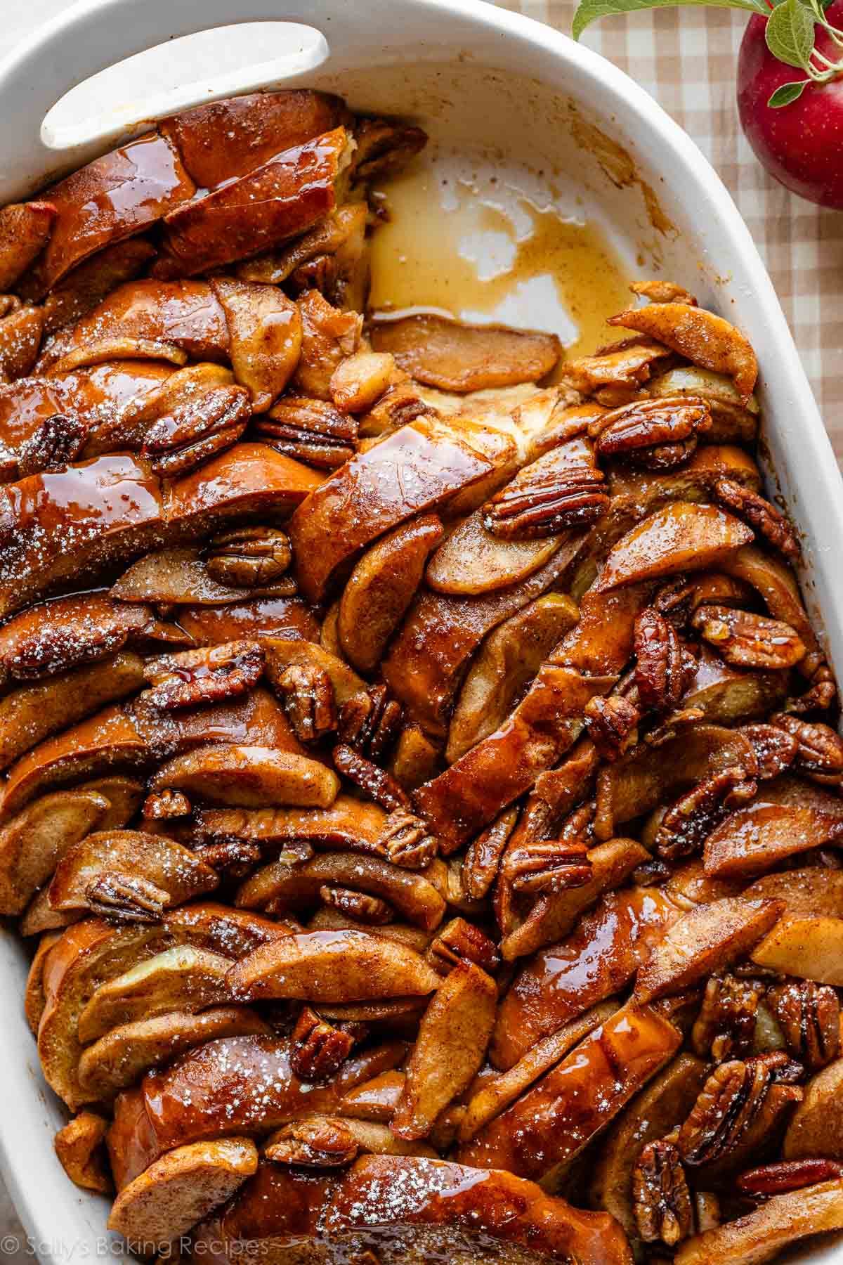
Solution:
<svg viewBox="0 0 843 1265"><path fill-rule="evenodd" d="M238 1001L354 1002L432 993L439 975L411 949L360 931L313 931L257 949L231 969Z"/></svg>

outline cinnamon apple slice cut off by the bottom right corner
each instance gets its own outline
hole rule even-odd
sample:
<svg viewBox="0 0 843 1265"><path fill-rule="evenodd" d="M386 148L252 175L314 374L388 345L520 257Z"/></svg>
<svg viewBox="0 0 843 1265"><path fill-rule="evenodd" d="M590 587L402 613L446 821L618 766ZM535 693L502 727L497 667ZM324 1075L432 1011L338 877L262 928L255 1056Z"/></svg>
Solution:
<svg viewBox="0 0 843 1265"><path fill-rule="evenodd" d="M676 1265L762 1265L795 1243L843 1227L843 1182L776 1194L736 1221L686 1238Z"/></svg>

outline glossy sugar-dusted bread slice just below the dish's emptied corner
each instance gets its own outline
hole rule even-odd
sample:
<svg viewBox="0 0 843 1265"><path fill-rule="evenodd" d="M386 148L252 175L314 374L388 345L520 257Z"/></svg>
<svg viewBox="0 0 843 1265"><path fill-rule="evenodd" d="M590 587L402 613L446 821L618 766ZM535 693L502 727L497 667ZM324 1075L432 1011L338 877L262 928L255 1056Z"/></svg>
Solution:
<svg viewBox="0 0 843 1265"><path fill-rule="evenodd" d="M321 601L377 536L494 476L516 455L512 435L417 417L340 467L296 511L289 538L300 583Z"/></svg>

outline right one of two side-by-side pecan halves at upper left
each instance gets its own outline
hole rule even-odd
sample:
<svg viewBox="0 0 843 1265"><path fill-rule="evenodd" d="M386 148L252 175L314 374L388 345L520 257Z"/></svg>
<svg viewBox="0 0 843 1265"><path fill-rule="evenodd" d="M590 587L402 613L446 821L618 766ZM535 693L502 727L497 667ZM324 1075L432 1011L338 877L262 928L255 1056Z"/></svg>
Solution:
<svg viewBox="0 0 843 1265"><path fill-rule="evenodd" d="M257 417L253 430L286 457L296 457L317 469L336 469L354 457L358 423L326 400L287 396L268 414Z"/></svg>

